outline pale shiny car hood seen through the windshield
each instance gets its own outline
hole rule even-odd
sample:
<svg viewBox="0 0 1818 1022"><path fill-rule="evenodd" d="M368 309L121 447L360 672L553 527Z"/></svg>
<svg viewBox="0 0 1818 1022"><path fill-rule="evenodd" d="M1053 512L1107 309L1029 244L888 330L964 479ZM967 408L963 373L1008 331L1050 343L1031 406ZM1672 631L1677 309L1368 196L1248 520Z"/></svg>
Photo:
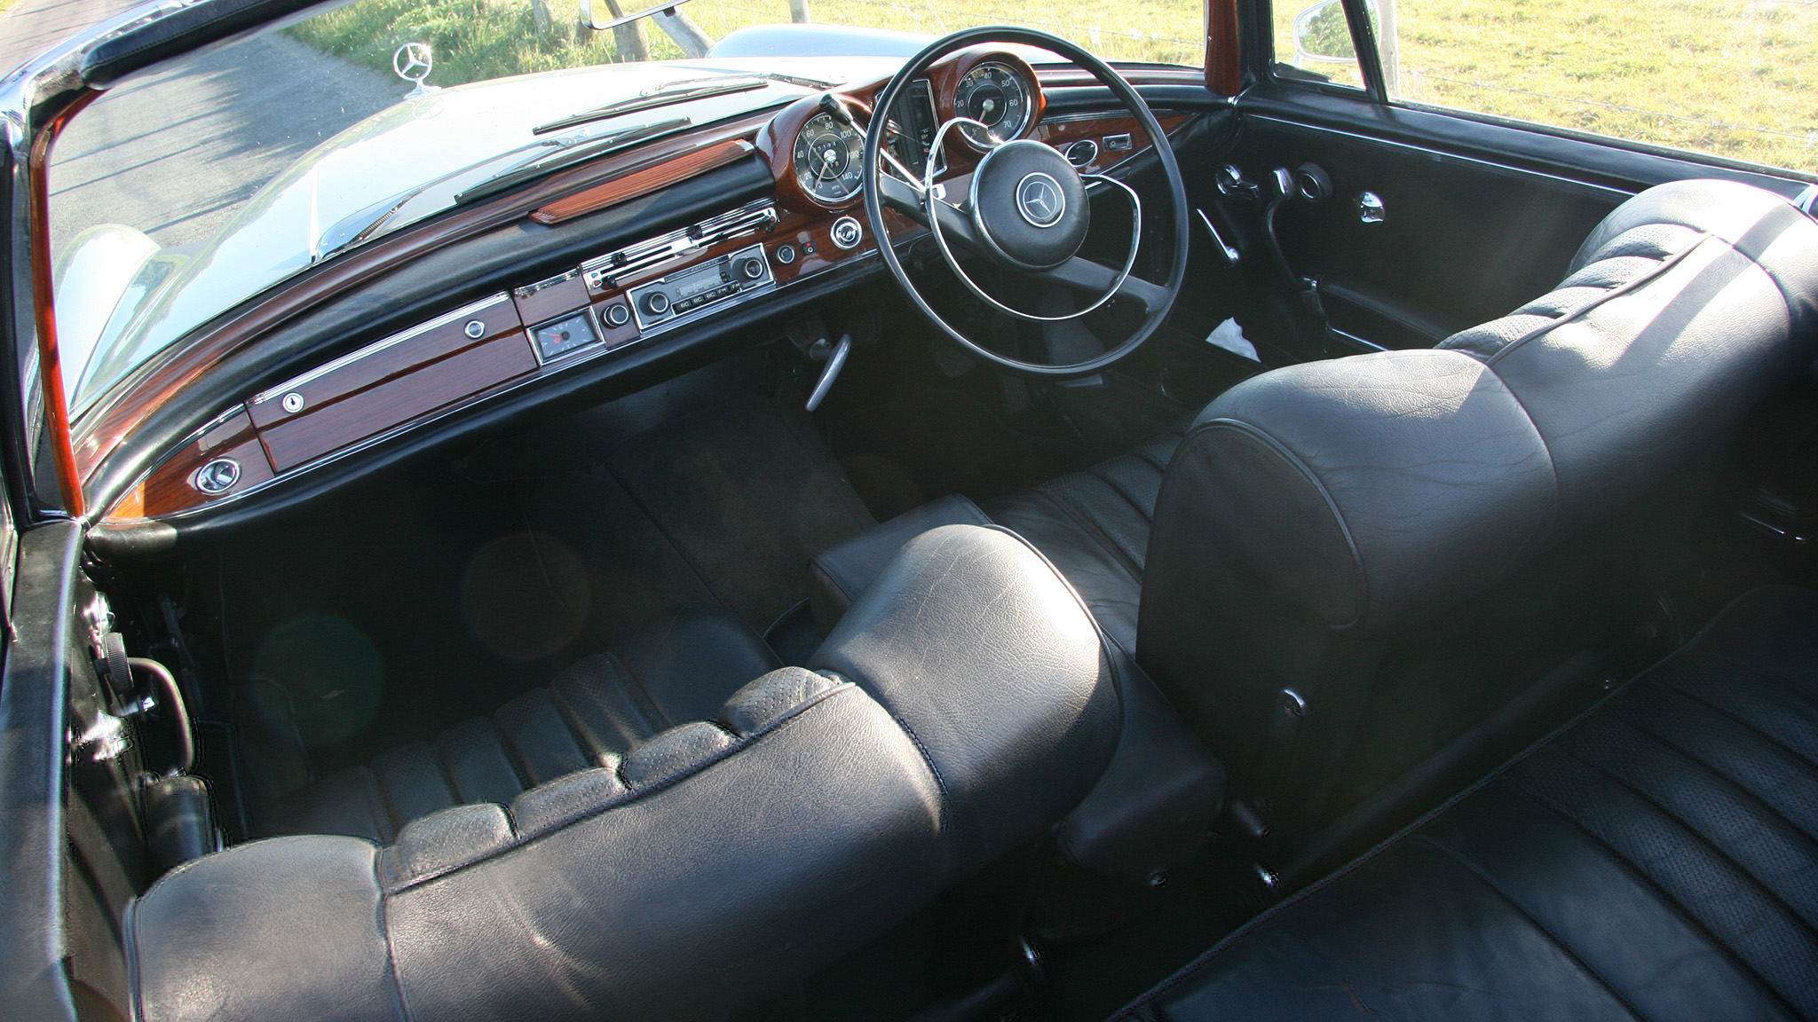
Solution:
<svg viewBox="0 0 1818 1022"><path fill-rule="evenodd" d="M405 98L305 153L260 187L213 238L145 258L95 338L73 387L75 409L80 415L131 367L204 322L329 256L322 238L335 225L349 218L358 224L364 211L384 209L413 187L533 144L536 125L673 82L767 73L845 84L889 76L900 62L889 56L656 60L520 75ZM813 91L767 82L762 89L636 111L551 135L587 142L682 116L700 125ZM387 227L402 227L447 204L415 211Z"/></svg>

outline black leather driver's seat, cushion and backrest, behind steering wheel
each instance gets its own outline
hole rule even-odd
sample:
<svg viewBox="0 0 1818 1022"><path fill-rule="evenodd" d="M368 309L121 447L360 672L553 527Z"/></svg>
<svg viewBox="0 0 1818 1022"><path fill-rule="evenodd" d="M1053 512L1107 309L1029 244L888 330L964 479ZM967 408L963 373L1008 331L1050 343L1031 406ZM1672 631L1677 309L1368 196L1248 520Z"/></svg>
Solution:
<svg viewBox="0 0 1818 1022"><path fill-rule="evenodd" d="M1647 551L1562 544L1613 556L1583 536L1636 507L1662 522L1633 533L1687 527L1694 469L1811 362L1814 304L1818 224L1756 187L1667 184L1556 291L1434 351L1264 373L1129 455L914 527L996 522L1042 549L1231 773L1222 831L1311 871L1405 813L1367 800L1594 647L1571 642L1613 644ZM905 531L822 556L824 616ZM1347 813L1369 817L1336 827L1349 844L1327 829Z"/></svg>

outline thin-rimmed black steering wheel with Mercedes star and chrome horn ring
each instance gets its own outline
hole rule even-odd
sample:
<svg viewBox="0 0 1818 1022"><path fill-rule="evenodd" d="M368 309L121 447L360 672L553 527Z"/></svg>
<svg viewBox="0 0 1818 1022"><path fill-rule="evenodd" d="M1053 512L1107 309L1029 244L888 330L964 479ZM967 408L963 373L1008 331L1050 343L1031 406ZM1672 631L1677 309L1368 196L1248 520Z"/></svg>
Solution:
<svg viewBox="0 0 1818 1022"><path fill-rule="evenodd" d="M1167 311L1174 306L1174 298L1180 295L1180 284L1187 275L1187 187L1180 178L1180 164L1174 162L1174 151L1167 144L1167 135L1154 120L1154 113L1149 109L1149 104L1136 95L1136 89L1133 89L1122 75L1078 45L1034 29L987 25L980 29L958 31L940 38L896 71L896 76L884 87L884 95L878 96L873 109L884 111L882 118L887 118L887 111L896 109L896 98L902 96L909 84L922 76L931 64L949 53L984 42L1025 44L1065 56L1111 89L1111 93L1124 104L1125 109L1129 109L1131 116L1136 118L1149 138L1154 140L1154 153L1162 160L1162 173L1167 176L1167 191L1173 204L1173 215L1167 220L1173 236L1165 240L1174 253L1174 260L1167 284L1151 284L1131 275L1131 267L1136 264L1136 249L1142 245L1142 198L1133 187L1107 175L1082 175L1073 164L1067 162L1065 156L1042 142L1034 142L1031 138L1002 142L991 135L989 125L967 116L953 116L934 131L934 142L929 145L925 164L927 171L920 180L916 180L916 176L907 171L907 167L898 164L884 147L887 131L884 131L882 120L876 115L873 116L871 129L865 131L864 162L864 182L867 184L864 189L865 218L871 222L871 236L878 238L878 251L884 253L884 262L891 267L891 276L896 278L896 286L909 298L909 302L914 304L914 307L920 309L931 324L940 327L953 340L960 342L973 355L1004 366L1005 369L1036 376L1085 376L1098 373L1113 362L1125 358L1149 340L1156 327L1162 326ZM973 182L965 198L958 204L944 198L940 189L934 187L934 164L940 155L940 147L945 142L947 133L956 125L969 127L969 138L989 145L987 153L978 162L978 167L973 169ZM889 162L902 176L884 173L884 162ZM1080 245L1085 242L1085 235L1091 229L1091 204L1085 191L1087 178L1122 189L1131 202L1131 222L1134 224L1134 231L1129 258L1124 260L1122 269L1114 269L1078 255ZM996 351L991 351L954 329L947 324L947 320L940 318L940 315L927 304L927 298L924 298L916 286L909 280L902 260L896 258L896 247L889 242L889 233L885 231L885 205L896 209L898 213L905 213L918 224L924 224L934 236L934 244L940 249L942 258L947 262L947 267L958 275L967 291L1004 313L1027 322L1073 320L1098 309L1116 296L1136 302L1144 307L1142 326L1138 326L1129 338L1111 351L1067 366L1024 362L1020 358L998 355ZM954 256L954 249L964 249L991 266L1020 273L1034 280L1047 280L1093 295L1094 300L1076 313L1065 313L1060 316L1025 313L987 295L985 289L980 287L978 282L965 273L965 269L962 269L960 260Z"/></svg>

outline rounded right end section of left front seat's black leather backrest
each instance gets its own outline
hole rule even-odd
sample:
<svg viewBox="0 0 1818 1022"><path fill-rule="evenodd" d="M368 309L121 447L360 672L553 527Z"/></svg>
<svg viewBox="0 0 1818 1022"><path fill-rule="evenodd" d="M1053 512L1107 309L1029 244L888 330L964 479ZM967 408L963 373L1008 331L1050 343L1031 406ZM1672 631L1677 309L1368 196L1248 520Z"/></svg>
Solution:
<svg viewBox="0 0 1818 1022"><path fill-rule="evenodd" d="M1098 626L1005 529L909 540L809 666L871 693L927 755L962 873L1073 809L1116 747L1122 700Z"/></svg>

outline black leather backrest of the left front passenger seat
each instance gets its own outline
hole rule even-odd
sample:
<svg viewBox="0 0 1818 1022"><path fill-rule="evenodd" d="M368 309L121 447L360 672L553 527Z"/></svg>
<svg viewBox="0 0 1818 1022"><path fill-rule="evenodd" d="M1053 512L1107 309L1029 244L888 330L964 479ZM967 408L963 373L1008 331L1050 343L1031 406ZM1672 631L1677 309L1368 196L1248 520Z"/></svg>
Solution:
<svg viewBox="0 0 1818 1022"><path fill-rule="evenodd" d="M133 1015L727 1017L1044 835L1118 722L1065 582L1009 533L931 531L809 669L713 720L385 846L276 837L165 875L125 918Z"/></svg>

